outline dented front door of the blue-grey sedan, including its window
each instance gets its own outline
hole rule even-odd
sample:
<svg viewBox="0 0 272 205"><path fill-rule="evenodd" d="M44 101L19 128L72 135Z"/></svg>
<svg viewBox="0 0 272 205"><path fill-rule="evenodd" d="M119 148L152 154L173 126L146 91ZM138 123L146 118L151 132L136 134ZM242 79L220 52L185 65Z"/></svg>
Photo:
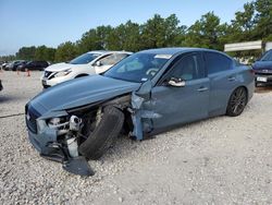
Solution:
<svg viewBox="0 0 272 205"><path fill-rule="evenodd" d="M160 114L154 118L154 129L191 122L208 117L210 82L206 77L201 52L177 57L178 60L162 77L161 84L151 91L152 110ZM183 79L185 85L169 85L169 79Z"/></svg>

